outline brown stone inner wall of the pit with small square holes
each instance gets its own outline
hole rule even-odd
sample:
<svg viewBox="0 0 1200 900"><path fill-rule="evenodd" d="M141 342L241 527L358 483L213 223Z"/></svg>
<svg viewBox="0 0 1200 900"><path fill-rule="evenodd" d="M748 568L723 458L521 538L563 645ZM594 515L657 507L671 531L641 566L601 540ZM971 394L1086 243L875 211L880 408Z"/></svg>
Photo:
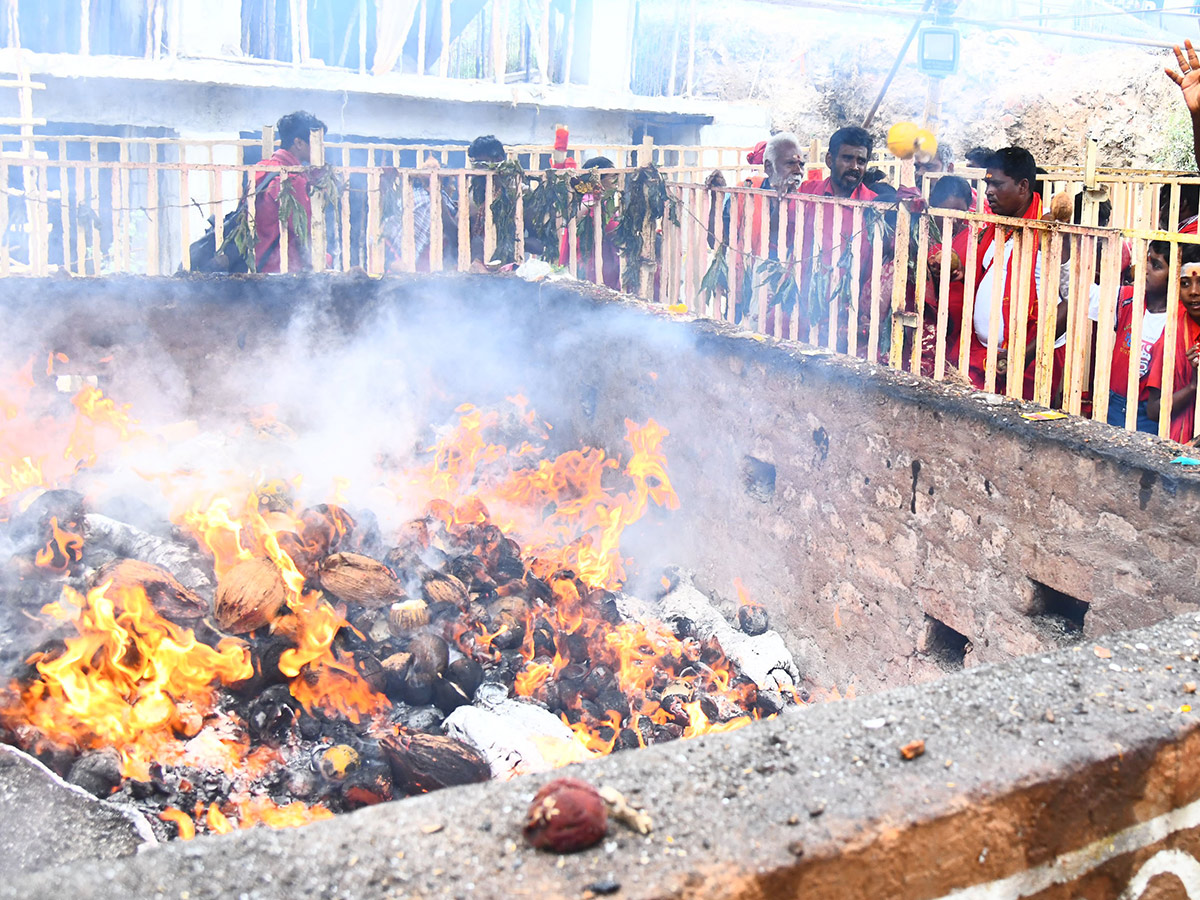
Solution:
<svg viewBox="0 0 1200 900"><path fill-rule="evenodd" d="M686 360L647 346L601 348L593 428L654 414L680 437L684 564L720 594L740 577L818 688L936 677L1200 600L1200 491L1165 444L749 337ZM769 467L773 491L754 474ZM1055 592L1088 605L1081 635L1043 614L1080 608Z"/></svg>

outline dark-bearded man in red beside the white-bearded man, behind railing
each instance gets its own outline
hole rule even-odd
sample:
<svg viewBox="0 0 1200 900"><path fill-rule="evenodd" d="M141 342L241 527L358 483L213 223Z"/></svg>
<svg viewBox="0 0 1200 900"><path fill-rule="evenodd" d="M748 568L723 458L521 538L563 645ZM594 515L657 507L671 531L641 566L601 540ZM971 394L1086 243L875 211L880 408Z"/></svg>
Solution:
<svg viewBox="0 0 1200 900"><path fill-rule="evenodd" d="M866 166L871 158L874 142L865 128L847 126L839 128L829 138L829 152L826 154L826 166L829 176L822 181L805 181L800 185L800 193L817 197L835 197L844 200L874 200L875 192L863 184L866 174ZM821 209L821 247L814 250L814 233L816 230L814 221L817 209ZM839 246L834 247L834 233L840 238ZM858 264L860 266L860 284L870 284L870 252L866 238L866 228L858 235ZM847 349L847 329L850 320L851 298L842 290L846 282L845 271L841 263L845 260L847 250L854 241L854 215L848 208L838 208L833 204L805 203L804 204L804 244L800 259L800 296L810 296L810 284L817 278L817 287L823 296L818 296L809 304L808 310L800 310L800 340L805 340L809 330L817 326L820 343L828 341L829 330L829 305L836 302L838 312L838 349Z"/></svg>

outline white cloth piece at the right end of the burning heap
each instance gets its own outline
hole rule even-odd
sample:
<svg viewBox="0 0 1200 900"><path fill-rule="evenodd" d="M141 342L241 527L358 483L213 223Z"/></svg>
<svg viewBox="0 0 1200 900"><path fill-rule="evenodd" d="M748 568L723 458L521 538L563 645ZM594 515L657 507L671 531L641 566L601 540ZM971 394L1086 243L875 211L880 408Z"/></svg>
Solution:
<svg viewBox="0 0 1200 900"><path fill-rule="evenodd" d="M781 690L800 679L796 660L778 631L748 635L733 628L712 601L691 584L680 582L659 601L664 622L691 622L701 640L715 637L725 655L762 690Z"/></svg>

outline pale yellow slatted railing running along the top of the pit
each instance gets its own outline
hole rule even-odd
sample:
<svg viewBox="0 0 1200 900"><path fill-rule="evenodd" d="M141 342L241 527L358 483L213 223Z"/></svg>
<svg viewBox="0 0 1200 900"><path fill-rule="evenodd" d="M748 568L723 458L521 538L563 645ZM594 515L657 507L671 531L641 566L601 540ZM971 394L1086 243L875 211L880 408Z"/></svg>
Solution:
<svg viewBox="0 0 1200 900"><path fill-rule="evenodd" d="M70 152L48 158L20 149L0 155L0 185L7 188L7 203L0 204L0 276L186 271L190 245L210 220L217 245L229 236L223 216L262 172L256 163L196 162L186 146L119 146L115 160L104 158L98 142L89 144L84 158ZM234 146L245 150L247 144ZM272 148L270 142L257 150ZM671 151L649 143L619 149L637 164ZM599 172L523 170L511 163L499 170L392 166L396 148L365 148L362 164L323 166L330 162L326 150L314 142L316 172L283 170L283 178L302 174L317 186L306 234L317 271L466 271L536 253L562 260L578 277L619 286L677 312L934 380L970 378L982 390L1099 420L1108 418L1112 385L1138 395L1138 354L1130 354L1130 366L1112 370L1118 294L1122 288L1132 293L1138 347L1146 314L1147 246L1152 240L1170 244L1164 341L1174 348L1182 322L1177 251L1200 242L1195 235L1145 227L913 211L905 204L709 187L701 178L707 164L607 169L604 174L618 181L610 188L594 181ZM530 161L547 152L529 150ZM739 157L744 161L740 151ZM1133 178L1124 184L1139 184ZM1159 178L1146 184L1177 193L1178 180ZM644 202L632 203L635 194ZM635 214L641 218L632 221ZM247 204L251 234L254 218L256 205ZM1010 282L991 278L991 288L980 290L989 228L1010 235L1006 246L1015 247L1014 274ZM294 234L294 227L281 228L282 271ZM941 235L955 238L943 241ZM1122 283L1126 244L1133 260L1128 284ZM990 316L978 330L1010 340L980 343L973 337L980 304L990 305ZM1090 305L1098 307L1091 317ZM1172 380L1174 367L1166 366L1159 415L1164 437L1177 386ZM1135 403L1124 424L1136 427Z"/></svg>

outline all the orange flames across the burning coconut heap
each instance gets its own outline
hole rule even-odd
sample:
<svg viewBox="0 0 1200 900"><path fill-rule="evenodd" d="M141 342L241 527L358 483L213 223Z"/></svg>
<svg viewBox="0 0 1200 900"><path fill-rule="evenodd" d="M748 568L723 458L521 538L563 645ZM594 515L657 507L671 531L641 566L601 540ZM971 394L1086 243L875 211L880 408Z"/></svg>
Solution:
<svg viewBox="0 0 1200 900"><path fill-rule="evenodd" d="M55 367L67 362L52 354L47 374L54 377ZM16 498L13 510L22 509L22 491L68 487L79 469L115 468L164 439L163 431L143 428L128 406L96 386L85 385L70 406L61 395L35 402L37 388L32 361L0 380L0 520L7 517L10 498ZM485 599L473 596L428 630L443 629L448 641L481 665L503 660L520 667L515 674L509 670L517 696L553 695L556 703L547 704L563 710L574 739L534 739L551 764L750 722L757 715L756 686L714 640L682 638L662 623L612 614L612 592L631 569L622 550L626 529L679 506L662 449L667 430L653 419L626 420L619 454L578 448L542 458L550 424L523 396L509 401L508 409L458 407L455 425L427 448L426 464L380 472L398 510L425 509L395 533L392 544L437 553L436 534L439 541L458 541L455 553L473 557L493 575L497 560L516 569L511 582L480 592ZM275 414L270 407L253 410L251 433L293 440L295 433ZM0 690L0 725L35 752L112 748L121 774L140 781L156 778L163 767L228 775L233 787L220 802L190 797L158 814L181 839L331 816L323 805L278 804L262 796L274 792L264 784L277 785L281 772L294 770L296 760L289 754L298 738L293 733L289 746L257 743L252 736L260 732L254 732L252 715L238 703L223 703L222 686L256 678L262 661L257 642L270 641L278 649L269 691L283 691L289 710L299 704L304 713L296 716L355 726L359 736L392 727L385 719L391 701L368 684L360 673L364 659L348 649L359 646L352 635L365 640L350 625L360 622L362 610L347 610L320 587L322 560L346 550L343 542L358 534L342 503L362 485L334 479L328 503L306 508L296 500L302 488L311 491L301 473L268 480L259 473L173 472L156 468L145 454L128 468L161 490L173 523L208 557L218 582L244 560L268 559L286 586L286 606L245 642L204 630L202 641L160 614L142 588L104 583L79 593L64 587L59 602L42 612L74 634L61 650L29 659L35 680ZM78 575L82 527L55 517L48 526L36 566L59 577ZM664 589L671 584L662 580ZM740 582L737 587L748 605ZM414 592L422 589L421 580L406 589L419 598ZM498 599L520 604L510 619L496 624L487 616L488 604ZM522 636L514 637L515 631ZM382 656L366 661L374 662L378 674ZM258 683L251 684L257 691Z"/></svg>

